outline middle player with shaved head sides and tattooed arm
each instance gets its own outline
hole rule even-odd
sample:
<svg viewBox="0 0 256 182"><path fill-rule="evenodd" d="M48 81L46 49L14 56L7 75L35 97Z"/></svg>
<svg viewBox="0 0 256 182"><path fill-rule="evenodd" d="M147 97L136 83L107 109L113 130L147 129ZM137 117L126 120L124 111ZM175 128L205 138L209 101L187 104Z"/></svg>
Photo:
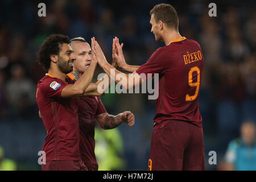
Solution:
<svg viewBox="0 0 256 182"><path fill-rule="evenodd" d="M115 40L113 40L114 42ZM87 71L92 61L92 49L84 38L74 38L71 40L71 47L77 59L73 63L73 71L68 74L67 82L70 84L80 80L81 75ZM114 48L113 48L114 49ZM88 86L87 92L96 93L101 81L109 81L108 75L104 79ZM107 89L107 88L105 88ZM128 126L134 125L134 115L130 111L125 111L118 115L107 113L100 97L81 97L77 100L78 118L80 128L80 154L81 159L89 171L97 171L98 164L94 154L95 140L94 127L95 119L102 129L114 129L125 122Z"/></svg>

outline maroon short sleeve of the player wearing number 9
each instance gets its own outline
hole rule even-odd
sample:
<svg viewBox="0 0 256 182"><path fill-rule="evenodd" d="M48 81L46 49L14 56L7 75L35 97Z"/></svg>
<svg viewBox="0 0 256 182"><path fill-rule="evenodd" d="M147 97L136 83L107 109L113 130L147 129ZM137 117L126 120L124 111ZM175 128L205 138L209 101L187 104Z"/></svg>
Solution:
<svg viewBox="0 0 256 182"><path fill-rule="evenodd" d="M147 60L146 64L141 65L139 69L137 69L137 73L143 78L148 78L148 73L152 74L152 77L155 73L163 73L168 65L168 55L164 48L158 48ZM170 64L170 63L169 63ZM143 74L144 73L144 74Z"/></svg>

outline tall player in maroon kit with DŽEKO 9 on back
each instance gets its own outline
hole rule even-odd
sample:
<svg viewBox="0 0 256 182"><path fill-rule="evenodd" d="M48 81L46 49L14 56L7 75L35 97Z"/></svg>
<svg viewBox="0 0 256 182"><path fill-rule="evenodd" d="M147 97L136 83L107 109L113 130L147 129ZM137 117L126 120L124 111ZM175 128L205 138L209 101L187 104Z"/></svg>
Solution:
<svg viewBox="0 0 256 182"><path fill-rule="evenodd" d="M156 5L150 15L151 32L157 42L164 42L166 46L158 48L146 64L141 67L127 65L119 43L116 44L118 67L133 74L126 75L109 65L94 38L92 49L98 64L126 89L146 81L150 78L148 73L159 74L159 97L148 169L205 170L203 126L198 103L204 64L201 47L196 41L179 34L178 16L171 5ZM111 69L114 72L110 72ZM127 81L129 78L135 78L135 81Z"/></svg>

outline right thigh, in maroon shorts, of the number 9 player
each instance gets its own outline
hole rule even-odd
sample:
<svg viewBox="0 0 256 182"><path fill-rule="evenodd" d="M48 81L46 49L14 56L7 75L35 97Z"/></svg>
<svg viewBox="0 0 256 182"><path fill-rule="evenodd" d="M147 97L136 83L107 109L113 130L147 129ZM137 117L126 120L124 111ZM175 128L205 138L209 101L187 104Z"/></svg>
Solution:
<svg viewBox="0 0 256 182"><path fill-rule="evenodd" d="M184 151L183 170L205 170L203 127L192 125L192 137Z"/></svg>

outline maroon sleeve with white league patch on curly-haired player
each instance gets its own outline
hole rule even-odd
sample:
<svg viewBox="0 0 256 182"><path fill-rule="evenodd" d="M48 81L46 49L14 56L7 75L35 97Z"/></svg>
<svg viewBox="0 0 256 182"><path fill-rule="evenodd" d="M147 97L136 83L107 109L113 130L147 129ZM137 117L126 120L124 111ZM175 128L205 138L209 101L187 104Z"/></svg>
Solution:
<svg viewBox="0 0 256 182"><path fill-rule="evenodd" d="M61 97L61 92L67 86L68 83L54 78L48 78L40 85L40 92L46 97Z"/></svg>

